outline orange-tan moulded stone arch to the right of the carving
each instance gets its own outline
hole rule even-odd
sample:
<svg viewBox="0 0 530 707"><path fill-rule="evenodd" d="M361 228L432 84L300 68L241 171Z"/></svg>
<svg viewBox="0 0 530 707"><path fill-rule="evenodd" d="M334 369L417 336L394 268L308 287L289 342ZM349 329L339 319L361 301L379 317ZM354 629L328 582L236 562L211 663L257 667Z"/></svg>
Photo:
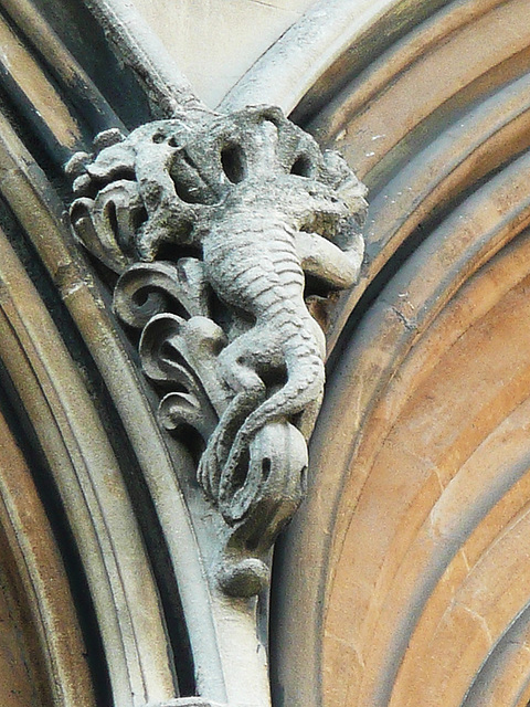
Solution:
<svg viewBox="0 0 530 707"><path fill-rule="evenodd" d="M528 704L526 14L448 3L311 125L373 193L337 335L388 279L337 338L275 566L285 704Z"/></svg>

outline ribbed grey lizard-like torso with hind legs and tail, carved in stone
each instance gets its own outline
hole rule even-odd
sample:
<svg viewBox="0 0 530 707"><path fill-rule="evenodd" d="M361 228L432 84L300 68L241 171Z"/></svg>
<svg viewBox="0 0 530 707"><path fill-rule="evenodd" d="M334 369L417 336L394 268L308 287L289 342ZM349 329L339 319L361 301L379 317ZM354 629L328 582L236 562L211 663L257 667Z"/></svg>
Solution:
<svg viewBox="0 0 530 707"><path fill-rule="evenodd" d="M259 210L252 217L232 211L230 221L211 229L202 245L206 276L218 296L253 319L252 328L220 355L235 398L199 471L211 493L222 496L261 428L273 420L294 420L320 400L322 335L304 302L304 271L295 230L286 219ZM273 379L274 392L265 399L267 379ZM226 431L245 413L226 449Z"/></svg>

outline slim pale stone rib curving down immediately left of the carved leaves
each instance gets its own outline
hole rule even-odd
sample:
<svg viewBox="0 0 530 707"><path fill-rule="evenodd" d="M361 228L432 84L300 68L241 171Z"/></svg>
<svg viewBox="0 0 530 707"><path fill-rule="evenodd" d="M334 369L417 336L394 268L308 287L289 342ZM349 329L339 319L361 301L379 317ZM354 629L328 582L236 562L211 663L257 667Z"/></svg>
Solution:
<svg viewBox="0 0 530 707"><path fill-rule="evenodd" d="M105 312L105 305L89 273L72 246L71 234L61 220L61 204L53 189L3 119L0 120L0 152L6 168L1 193L34 244L78 327L108 387L152 494L179 582L184 613L192 626L191 642L200 689L223 700L224 675L216 645L211 598L203 582L201 553L176 479L173 463L161 441L138 376ZM42 238L43 233L46 234L45 239ZM116 374L117 370L119 376ZM127 394L124 394L125 391ZM76 432L81 431L74 429L74 436ZM145 573L146 577L151 577L148 568ZM138 577L137 573L129 573L124 579L126 583L136 582ZM137 603L136 609L141 611L141 602ZM105 623L104 614L100 621ZM157 621L163 621L160 614L157 615ZM138 640L141 631L137 634ZM128 640L128 633L125 632L123 637ZM146 636L140 643L146 656L152 655L152 639ZM163 631L156 652L163 659L160 665L156 665L149 658L152 673L147 679L148 683L152 679L153 694L159 694L156 685L160 671L165 669L162 666L166 665L171 673ZM149 674L150 668L146 665L146 676ZM123 704L121 688L117 689L117 704ZM130 689L125 690L124 695L129 695L129 699Z"/></svg>

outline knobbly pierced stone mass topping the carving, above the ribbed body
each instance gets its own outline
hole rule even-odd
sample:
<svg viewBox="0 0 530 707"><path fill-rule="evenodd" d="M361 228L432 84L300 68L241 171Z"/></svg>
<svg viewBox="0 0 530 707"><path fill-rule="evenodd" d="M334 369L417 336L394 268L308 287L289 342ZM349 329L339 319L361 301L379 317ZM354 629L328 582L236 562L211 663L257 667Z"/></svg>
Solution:
<svg viewBox="0 0 530 707"><path fill-rule="evenodd" d="M121 273L165 244L200 245L226 205L273 202L298 230L348 250L358 238L365 188L346 161L320 150L279 108L210 114L193 125L148 123L107 130L95 154L77 152L71 220L85 247Z"/></svg>

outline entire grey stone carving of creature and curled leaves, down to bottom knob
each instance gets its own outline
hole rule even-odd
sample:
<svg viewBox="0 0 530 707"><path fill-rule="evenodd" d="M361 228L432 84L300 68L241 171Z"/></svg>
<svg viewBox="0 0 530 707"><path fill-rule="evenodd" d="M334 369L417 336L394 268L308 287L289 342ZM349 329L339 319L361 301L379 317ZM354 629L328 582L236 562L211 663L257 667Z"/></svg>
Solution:
<svg viewBox="0 0 530 707"><path fill-rule="evenodd" d="M356 282L365 189L268 106L107 130L95 148L68 165L74 231L119 275L115 310L139 334L160 422L186 432L226 524L218 581L252 595L303 497L322 395L304 274Z"/></svg>

